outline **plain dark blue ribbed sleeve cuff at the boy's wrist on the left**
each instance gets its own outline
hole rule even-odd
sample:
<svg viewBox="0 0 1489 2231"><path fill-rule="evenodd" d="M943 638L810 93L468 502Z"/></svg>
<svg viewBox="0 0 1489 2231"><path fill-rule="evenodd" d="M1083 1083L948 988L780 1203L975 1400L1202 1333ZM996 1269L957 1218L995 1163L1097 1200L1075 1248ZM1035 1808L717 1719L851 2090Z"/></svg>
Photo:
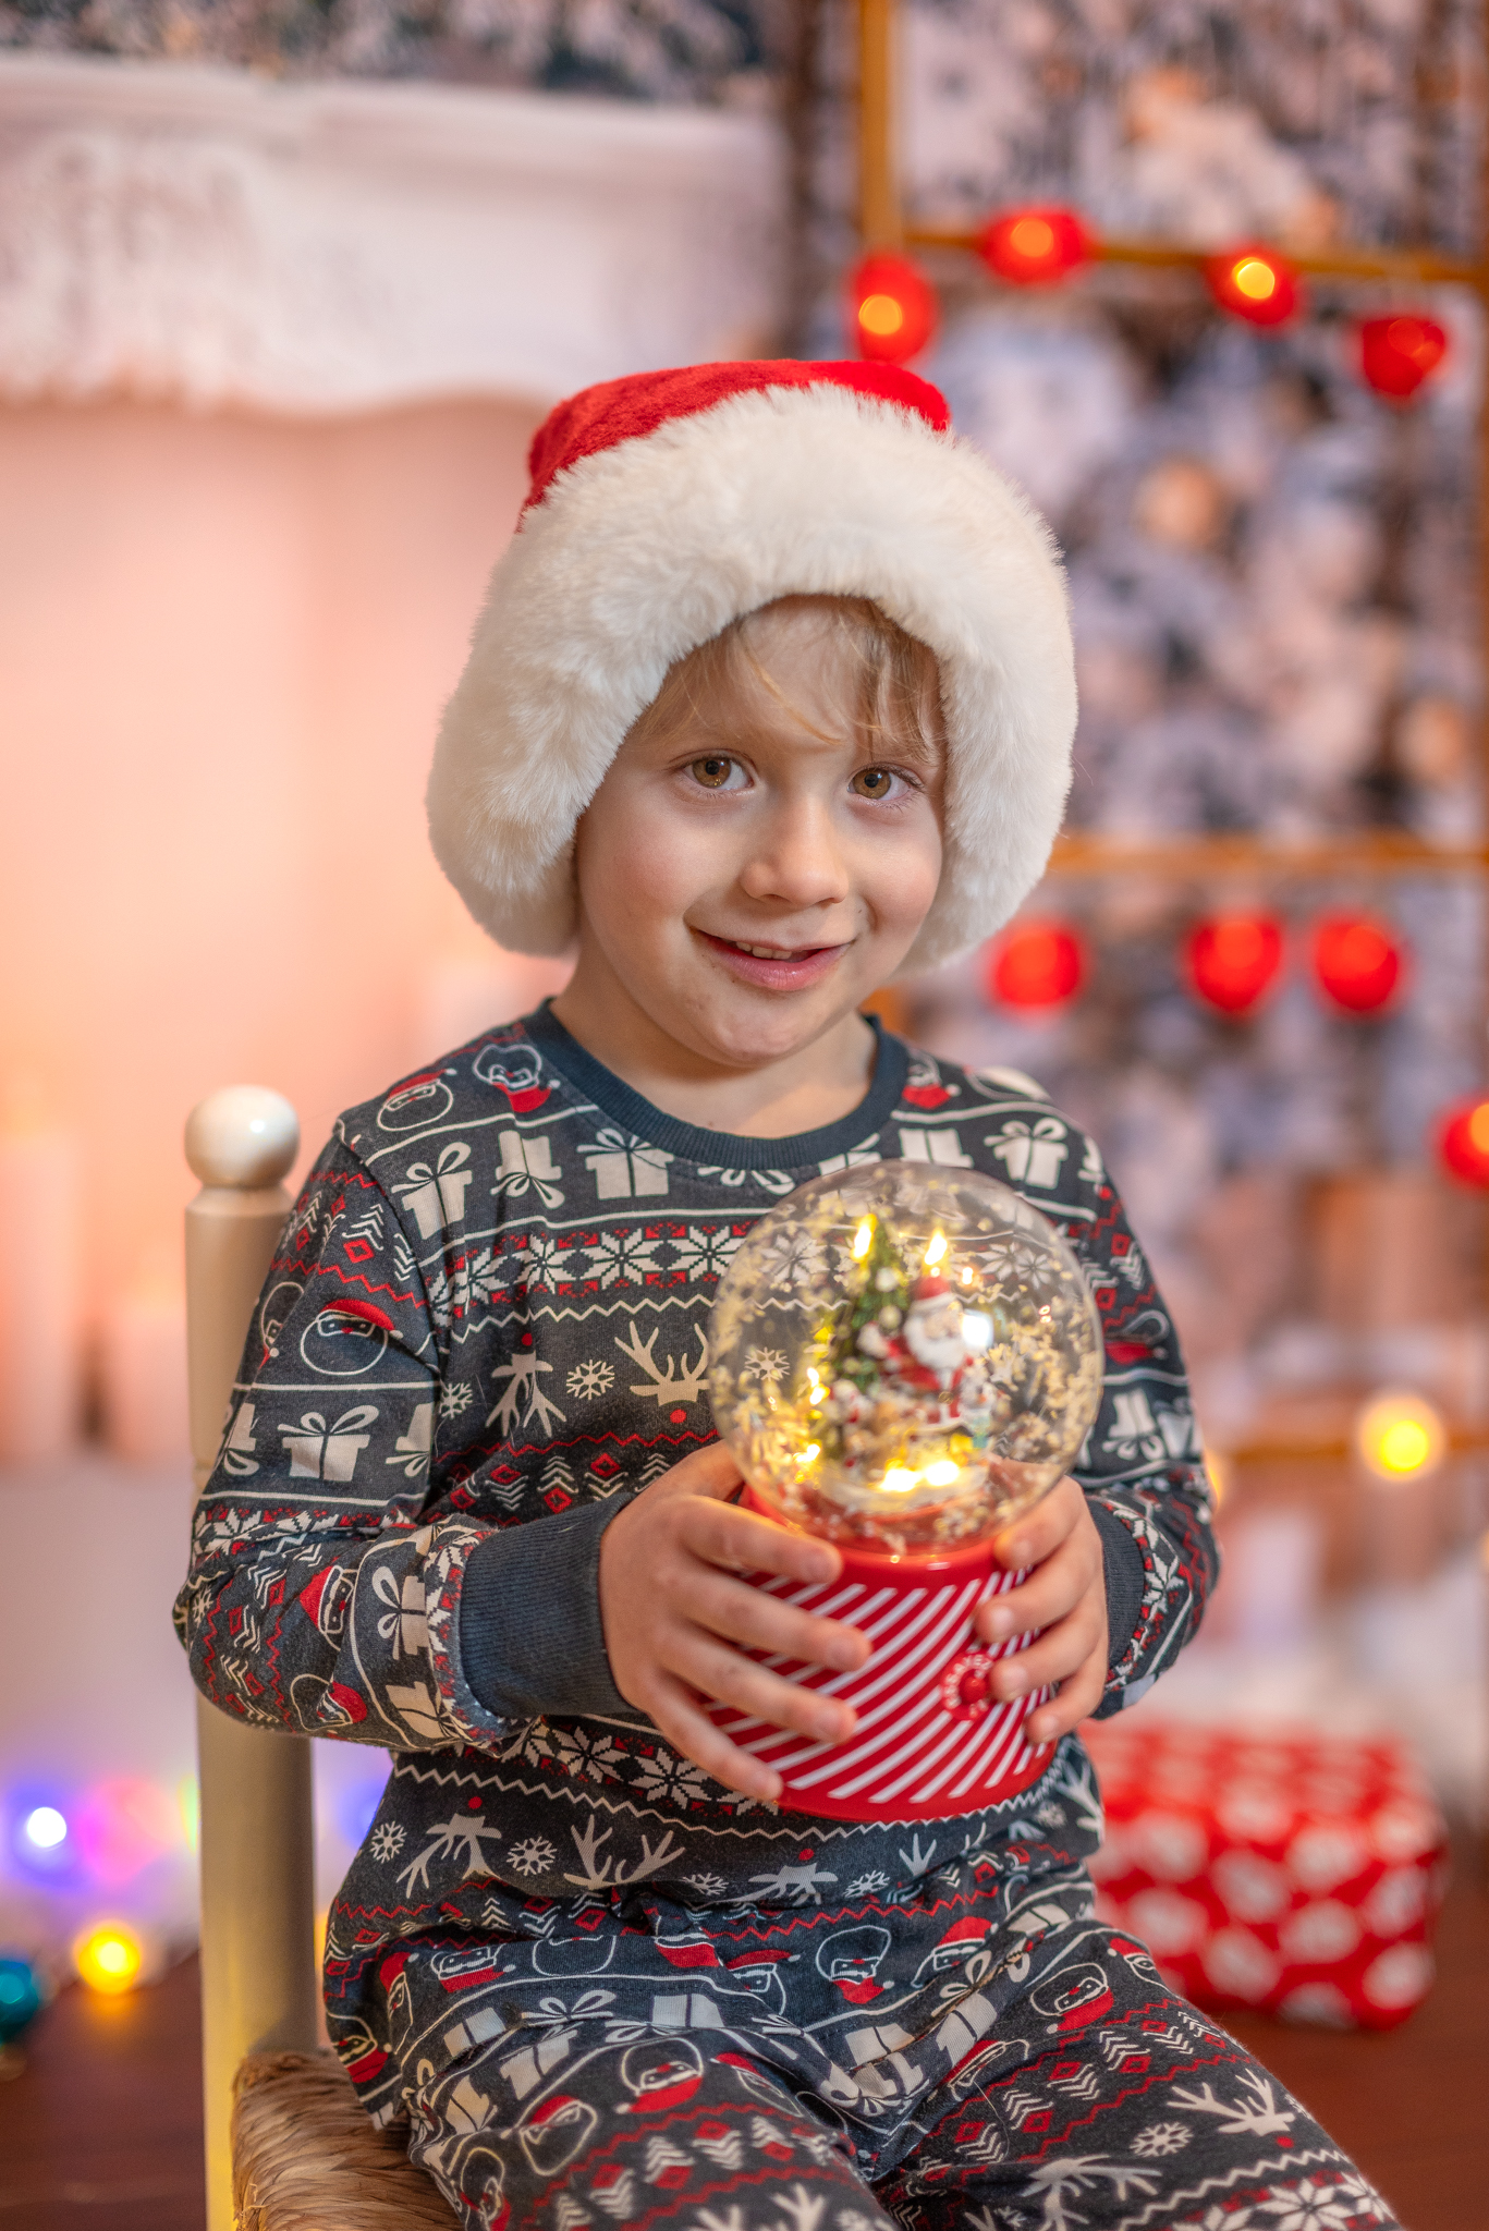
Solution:
<svg viewBox="0 0 1489 2231"><path fill-rule="evenodd" d="M460 1662L505 1720L630 1713L605 1655L601 1535L625 1497L505 1526L471 1551L460 1600Z"/></svg>

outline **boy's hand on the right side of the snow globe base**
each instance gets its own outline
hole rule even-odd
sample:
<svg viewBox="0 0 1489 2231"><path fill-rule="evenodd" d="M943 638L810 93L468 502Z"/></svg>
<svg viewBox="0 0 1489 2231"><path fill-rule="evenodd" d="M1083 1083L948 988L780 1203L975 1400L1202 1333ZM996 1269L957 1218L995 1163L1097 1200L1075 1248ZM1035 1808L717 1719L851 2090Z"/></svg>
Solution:
<svg viewBox="0 0 1489 2231"><path fill-rule="evenodd" d="M1005 1571L1029 1566L1029 1577L1007 1595L978 1604L984 1642L1034 1635L1016 1658L1000 1658L991 1673L998 1698L1056 1687L1029 1716L1031 1742L1056 1742L1101 1704L1107 1682L1107 1580L1101 1535L1074 1479L1063 1479L1022 1519L998 1535L993 1557ZM1043 1631L1040 1631L1043 1629Z"/></svg>

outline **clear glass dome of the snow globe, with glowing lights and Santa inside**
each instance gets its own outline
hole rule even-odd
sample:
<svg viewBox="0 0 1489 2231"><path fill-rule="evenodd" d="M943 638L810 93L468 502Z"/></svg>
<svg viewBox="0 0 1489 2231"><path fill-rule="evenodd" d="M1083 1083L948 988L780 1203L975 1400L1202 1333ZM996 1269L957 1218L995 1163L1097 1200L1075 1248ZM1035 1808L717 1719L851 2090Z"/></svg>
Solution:
<svg viewBox="0 0 1489 2231"><path fill-rule="evenodd" d="M844 1548L984 1542L1069 1470L1101 1381L1069 1245L971 1169L815 1178L761 1216L714 1301L714 1423L752 1497Z"/></svg>

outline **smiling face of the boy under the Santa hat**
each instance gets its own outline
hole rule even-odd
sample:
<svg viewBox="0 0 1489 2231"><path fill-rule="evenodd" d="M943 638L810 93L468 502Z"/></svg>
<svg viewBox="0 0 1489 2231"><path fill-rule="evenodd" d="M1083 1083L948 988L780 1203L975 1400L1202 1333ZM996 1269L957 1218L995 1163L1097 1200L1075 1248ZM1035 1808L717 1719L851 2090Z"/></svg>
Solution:
<svg viewBox="0 0 1489 2231"><path fill-rule="evenodd" d="M884 984L942 861L942 767L857 734L853 651L808 598L750 622L768 683L621 745L578 825L580 973L674 1044L788 1060ZM779 696L777 696L779 692Z"/></svg>

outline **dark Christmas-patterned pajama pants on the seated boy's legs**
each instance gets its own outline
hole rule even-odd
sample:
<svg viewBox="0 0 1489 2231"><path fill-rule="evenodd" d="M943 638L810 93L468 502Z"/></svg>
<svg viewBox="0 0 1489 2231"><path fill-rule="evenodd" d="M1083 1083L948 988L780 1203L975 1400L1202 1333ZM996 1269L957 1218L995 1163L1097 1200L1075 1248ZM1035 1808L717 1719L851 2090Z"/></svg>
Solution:
<svg viewBox="0 0 1489 2231"><path fill-rule="evenodd" d="M1395 2224L1078 1867L522 1919L382 1968L409 2151L469 2231Z"/></svg>

